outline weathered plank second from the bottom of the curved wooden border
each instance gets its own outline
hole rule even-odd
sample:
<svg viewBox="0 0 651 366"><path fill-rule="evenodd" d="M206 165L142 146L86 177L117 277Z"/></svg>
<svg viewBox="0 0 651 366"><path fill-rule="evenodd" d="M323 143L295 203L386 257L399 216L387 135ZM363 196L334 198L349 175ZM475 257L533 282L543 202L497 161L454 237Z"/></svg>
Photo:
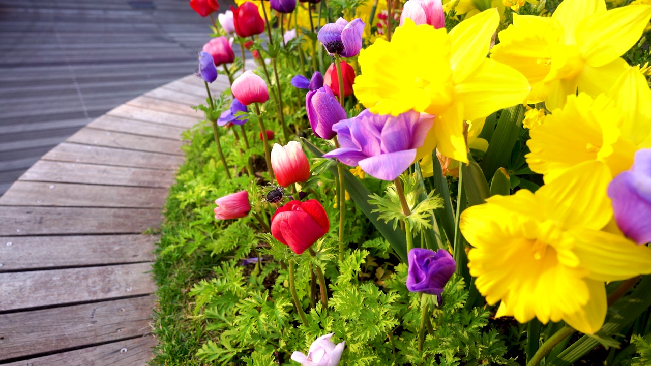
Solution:
<svg viewBox="0 0 651 366"><path fill-rule="evenodd" d="M1 314L0 361L146 335L151 330L148 323L153 308L154 296L143 296ZM115 350L115 346L111 348ZM122 348L127 347L117 348L115 353L119 355Z"/></svg>

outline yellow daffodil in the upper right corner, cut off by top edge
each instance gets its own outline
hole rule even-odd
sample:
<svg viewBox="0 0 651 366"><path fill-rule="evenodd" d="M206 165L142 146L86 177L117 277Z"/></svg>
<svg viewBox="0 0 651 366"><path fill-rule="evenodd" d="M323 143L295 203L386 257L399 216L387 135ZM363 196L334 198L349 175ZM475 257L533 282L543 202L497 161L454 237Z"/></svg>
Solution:
<svg viewBox="0 0 651 366"><path fill-rule="evenodd" d="M524 74L529 102L544 100L551 111L577 88L592 97L607 92L628 67L620 56L650 18L650 5L606 10L603 0L564 0L551 18L514 14L491 59Z"/></svg>

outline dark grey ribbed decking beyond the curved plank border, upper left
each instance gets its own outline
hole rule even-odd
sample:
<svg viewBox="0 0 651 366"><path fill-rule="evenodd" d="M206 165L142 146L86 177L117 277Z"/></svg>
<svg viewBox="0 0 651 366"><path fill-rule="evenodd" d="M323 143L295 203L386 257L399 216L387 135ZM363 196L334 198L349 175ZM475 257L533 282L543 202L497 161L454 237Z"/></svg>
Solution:
<svg viewBox="0 0 651 366"><path fill-rule="evenodd" d="M187 0L0 0L0 195L79 128L193 72L209 25Z"/></svg>

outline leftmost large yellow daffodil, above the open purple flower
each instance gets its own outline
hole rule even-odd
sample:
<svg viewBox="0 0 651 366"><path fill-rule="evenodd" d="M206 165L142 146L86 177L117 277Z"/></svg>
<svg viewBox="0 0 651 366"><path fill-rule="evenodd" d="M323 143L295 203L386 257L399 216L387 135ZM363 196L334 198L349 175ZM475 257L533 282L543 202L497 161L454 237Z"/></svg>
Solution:
<svg viewBox="0 0 651 366"><path fill-rule="evenodd" d="M495 9L462 21L450 33L406 20L391 42L378 39L361 51L355 96L373 113L414 109L435 115L417 159L438 146L443 155L467 162L464 120L521 103L530 89L516 70L486 58L498 24Z"/></svg>

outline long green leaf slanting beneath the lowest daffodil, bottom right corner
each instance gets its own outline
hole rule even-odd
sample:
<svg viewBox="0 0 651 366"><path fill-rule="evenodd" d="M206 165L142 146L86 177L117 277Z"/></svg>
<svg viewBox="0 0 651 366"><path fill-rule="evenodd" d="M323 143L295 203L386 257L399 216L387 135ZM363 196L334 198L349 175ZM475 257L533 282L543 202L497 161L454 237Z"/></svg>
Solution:
<svg viewBox="0 0 651 366"><path fill-rule="evenodd" d="M605 323L596 335L607 338L620 333L622 328L635 321L649 306L651 306L651 275L645 275L630 296L620 299L608 309ZM549 359L546 365L570 366L598 345L599 341L584 335L561 352L557 358Z"/></svg>

